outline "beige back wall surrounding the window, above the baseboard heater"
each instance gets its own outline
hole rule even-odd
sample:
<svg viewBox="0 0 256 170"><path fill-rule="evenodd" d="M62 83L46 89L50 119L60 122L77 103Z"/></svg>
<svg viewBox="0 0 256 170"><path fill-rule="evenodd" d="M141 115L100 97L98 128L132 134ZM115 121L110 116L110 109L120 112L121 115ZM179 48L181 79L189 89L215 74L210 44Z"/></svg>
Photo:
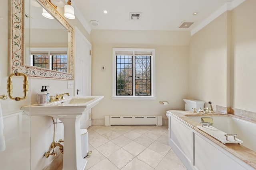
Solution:
<svg viewBox="0 0 256 170"><path fill-rule="evenodd" d="M166 33L174 35L172 32ZM184 109L182 98L186 98L188 93L187 43L190 35L186 31L175 37L158 36L160 34L159 31L92 31L92 95L105 96L98 107L92 109L92 119L120 114L157 114L166 118L167 110ZM175 40L179 41L180 46L170 45ZM156 100L112 100L113 47L156 49ZM106 66L104 72L101 71L102 65ZM170 104L163 106L159 101Z"/></svg>

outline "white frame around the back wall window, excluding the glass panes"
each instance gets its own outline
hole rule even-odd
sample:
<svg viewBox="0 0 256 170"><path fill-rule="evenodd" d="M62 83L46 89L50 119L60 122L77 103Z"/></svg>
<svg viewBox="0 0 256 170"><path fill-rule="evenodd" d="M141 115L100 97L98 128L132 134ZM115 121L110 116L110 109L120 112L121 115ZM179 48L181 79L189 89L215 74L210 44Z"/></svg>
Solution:
<svg viewBox="0 0 256 170"><path fill-rule="evenodd" d="M116 51L130 51L133 53L134 52L152 52L151 96L135 96L135 93L133 93L132 96L116 96ZM156 49L151 49L151 48L113 48L112 55L113 55L113 57L112 57L112 99L113 100L156 100ZM133 67L133 69L134 68L135 67ZM133 70L133 75L134 75L134 70ZM135 76L133 76L133 77L135 77Z"/></svg>

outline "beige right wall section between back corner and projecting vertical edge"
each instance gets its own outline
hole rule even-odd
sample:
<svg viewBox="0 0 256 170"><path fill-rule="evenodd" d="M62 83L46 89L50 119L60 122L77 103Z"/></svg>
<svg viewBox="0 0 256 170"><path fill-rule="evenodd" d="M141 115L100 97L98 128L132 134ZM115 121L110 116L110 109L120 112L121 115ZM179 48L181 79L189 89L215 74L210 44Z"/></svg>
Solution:
<svg viewBox="0 0 256 170"><path fill-rule="evenodd" d="M191 37L188 58L188 98L226 106L227 18L225 12ZM199 109L199 108L198 108Z"/></svg>

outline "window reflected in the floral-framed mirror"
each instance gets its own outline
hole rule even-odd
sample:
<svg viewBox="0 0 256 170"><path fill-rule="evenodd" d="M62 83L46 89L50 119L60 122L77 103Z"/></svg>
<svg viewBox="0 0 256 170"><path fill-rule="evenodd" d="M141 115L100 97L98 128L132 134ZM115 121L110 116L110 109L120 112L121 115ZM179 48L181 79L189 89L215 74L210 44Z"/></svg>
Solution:
<svg viewBox="0 0 256 170"><path fill-rule="evenodd" d="M31 48L30 65L68 72L68 48Z"/></svg>

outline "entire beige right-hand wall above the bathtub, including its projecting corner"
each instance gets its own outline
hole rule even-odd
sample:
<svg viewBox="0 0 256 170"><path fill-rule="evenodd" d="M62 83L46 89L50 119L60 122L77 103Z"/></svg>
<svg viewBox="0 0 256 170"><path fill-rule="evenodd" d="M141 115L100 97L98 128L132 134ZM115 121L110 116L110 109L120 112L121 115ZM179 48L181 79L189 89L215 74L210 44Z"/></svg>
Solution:
<svg viewBox="0 0 256 170"><path fill-rule="evenodd" d="M188 98L256 112L255 7L246 0L191 37Z"/></svg>

